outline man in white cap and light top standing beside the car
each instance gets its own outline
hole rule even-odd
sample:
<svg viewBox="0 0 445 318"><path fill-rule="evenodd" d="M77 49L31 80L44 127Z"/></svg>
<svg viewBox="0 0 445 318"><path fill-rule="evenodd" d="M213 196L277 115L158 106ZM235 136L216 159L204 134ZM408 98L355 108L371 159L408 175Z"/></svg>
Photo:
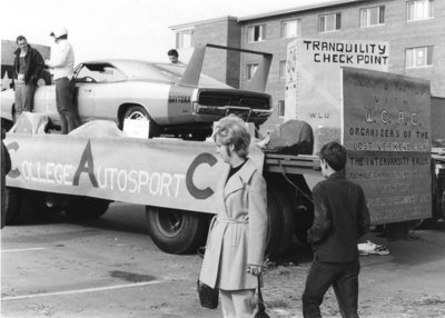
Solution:
<svg viewBox="0 0 445 318"><path fill-rule="evenodd" d="M56 105L60 115L60 126L66 135L79 127L77 105L75 105L75 51L68 42L68 31L65 27L51 32L55 46L51 48L51 59L44 63L52 68L56 81Z"/></svg>

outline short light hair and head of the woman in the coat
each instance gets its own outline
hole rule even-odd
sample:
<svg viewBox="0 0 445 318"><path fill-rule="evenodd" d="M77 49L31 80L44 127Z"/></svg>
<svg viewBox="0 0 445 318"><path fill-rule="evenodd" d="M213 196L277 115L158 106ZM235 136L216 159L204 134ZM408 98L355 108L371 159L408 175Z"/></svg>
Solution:
<svg viewBox="0 0 445 318"><path fill-rule="evenodd" d="M235 152L247 158L249 155L250 133L247 131L246 122L235 115L229 115L218 120L215 125L214 140L219 137L225 146L234 145Z"/></svg>

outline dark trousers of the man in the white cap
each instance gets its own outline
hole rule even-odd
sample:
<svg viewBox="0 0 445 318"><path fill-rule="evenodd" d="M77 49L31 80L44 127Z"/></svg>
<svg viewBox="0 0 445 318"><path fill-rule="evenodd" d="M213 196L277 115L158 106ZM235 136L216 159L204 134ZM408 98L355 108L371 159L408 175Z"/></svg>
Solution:
<svg viewBox="0 0 445 318"><path fill-rule="evenodd" d="M75 103L75 79L67 77L56 80L56 105L60 115L60 126L63 135L79 127L79 116Z"/></svg>

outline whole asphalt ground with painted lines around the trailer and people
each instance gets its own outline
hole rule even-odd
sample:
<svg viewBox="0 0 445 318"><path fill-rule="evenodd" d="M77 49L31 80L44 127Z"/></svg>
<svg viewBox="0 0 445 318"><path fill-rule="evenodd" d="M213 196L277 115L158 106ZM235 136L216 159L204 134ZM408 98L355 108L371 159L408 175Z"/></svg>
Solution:
<svg viewBox="0 0 445 318"><path fill-rule="evenodd" d="M387 241L388 256L360 257L360 317L445 317L445 222ZM270 264L264 296L270 317L301 317L312 252L294 242ZM159 250L141 206L112 203L101 218L62 215L1 230L1 317L221 317L200 307L201 259ZM332 291L324 317L339 317Z"/></svg>

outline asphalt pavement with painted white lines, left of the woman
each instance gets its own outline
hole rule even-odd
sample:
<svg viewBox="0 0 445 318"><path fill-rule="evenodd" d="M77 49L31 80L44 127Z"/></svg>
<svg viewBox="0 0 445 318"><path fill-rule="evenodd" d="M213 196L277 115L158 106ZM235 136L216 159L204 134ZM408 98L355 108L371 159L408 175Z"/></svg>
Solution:
<svg viewBox="0 0 445 318"><path fill-rule="evenodd" d="M160 251L139 206L113 203L92 221L6 227L1 250L1 317L220 316L199 306L201 259Z"/></svg>

